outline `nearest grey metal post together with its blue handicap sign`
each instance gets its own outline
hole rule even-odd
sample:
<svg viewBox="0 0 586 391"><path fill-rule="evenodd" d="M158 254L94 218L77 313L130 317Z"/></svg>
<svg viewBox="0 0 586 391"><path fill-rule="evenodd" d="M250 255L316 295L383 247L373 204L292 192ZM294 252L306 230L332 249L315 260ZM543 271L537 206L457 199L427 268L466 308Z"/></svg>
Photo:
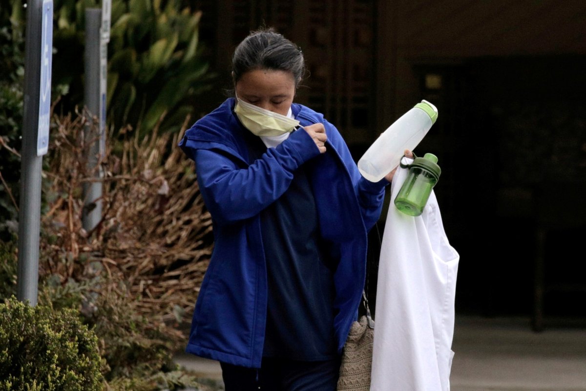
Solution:
<svg viewBox="0 0 586 391"><path fill-rule="evenodd" d="M49 147L53 0L29 0L26 20L17 295L19 300L36 305L39 283L41 172L43 155Z"/></svg>

